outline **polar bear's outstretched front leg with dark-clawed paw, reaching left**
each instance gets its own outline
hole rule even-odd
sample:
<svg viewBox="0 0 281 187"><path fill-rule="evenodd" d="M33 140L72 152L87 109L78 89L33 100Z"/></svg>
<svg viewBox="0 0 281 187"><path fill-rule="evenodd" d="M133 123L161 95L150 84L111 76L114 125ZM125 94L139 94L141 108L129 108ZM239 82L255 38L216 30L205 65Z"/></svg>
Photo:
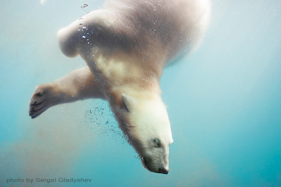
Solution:
<svg viewBox="0 0 281 187"><path fill-rule="evenodd" d="M53 82L36 86L29 103L29 116L35 118L54 105L87 98L105 98L101 85L88 66L73 70Z"/></svg>

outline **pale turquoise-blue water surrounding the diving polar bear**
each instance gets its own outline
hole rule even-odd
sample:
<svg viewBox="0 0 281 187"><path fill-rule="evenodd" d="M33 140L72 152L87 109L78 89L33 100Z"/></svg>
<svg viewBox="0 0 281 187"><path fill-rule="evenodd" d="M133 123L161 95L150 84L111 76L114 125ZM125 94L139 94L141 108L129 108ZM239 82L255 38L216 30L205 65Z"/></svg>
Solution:
<svg viewBox="0 0 281 187"><path fill-rule="evenodd" d="M0 186L280 187L278 0L213 0L200 48L164 70L174 139L168 175L143 168L105 101L58 105L30 119L37 84L85 66L60 52L57 31L101 4L0 2Z"/></svg>

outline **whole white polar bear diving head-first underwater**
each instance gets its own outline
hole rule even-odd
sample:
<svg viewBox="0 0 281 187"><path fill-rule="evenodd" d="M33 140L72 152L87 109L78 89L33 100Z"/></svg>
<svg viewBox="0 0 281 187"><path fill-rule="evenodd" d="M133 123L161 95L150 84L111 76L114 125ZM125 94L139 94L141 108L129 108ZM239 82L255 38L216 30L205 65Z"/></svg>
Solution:
<svg viewBox="0 0 281 187"><path fill-rule="evenodd" d="M108 0L58 31L61 51L87 66L35 88L29 115L87 98L108 101L143 166L168 174L169 117L160 77L196 49L210 20L210 0Z"/></svg>

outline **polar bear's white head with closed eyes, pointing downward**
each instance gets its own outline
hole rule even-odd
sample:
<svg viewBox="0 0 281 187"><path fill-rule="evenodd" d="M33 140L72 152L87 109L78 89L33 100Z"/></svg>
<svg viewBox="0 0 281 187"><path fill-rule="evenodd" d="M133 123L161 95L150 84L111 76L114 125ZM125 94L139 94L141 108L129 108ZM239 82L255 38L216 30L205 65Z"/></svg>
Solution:
<svg viewBox="0 0 281 187"><path fill-rule="evenodd" d="M115 116L143 166L151 172L168 174L169 145L173 139L161 97L132 97L124 93L121 97L121 113Z"/></svg>

